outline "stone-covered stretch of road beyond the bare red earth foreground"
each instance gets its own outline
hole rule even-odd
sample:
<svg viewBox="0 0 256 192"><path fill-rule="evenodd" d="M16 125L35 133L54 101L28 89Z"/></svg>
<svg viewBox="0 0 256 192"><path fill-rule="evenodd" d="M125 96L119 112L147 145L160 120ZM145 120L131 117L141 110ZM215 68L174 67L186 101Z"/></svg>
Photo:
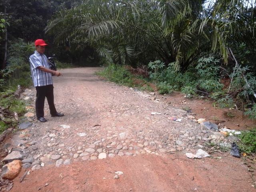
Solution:
<svg viewBox="0 0 256 192"><path fill-rule="evenodd" d="M97 159L118 160L120 157L136 161L136 158L149 154L152 158L177 154L189 160L186 152L195 153L200 148L218 152L214 143L230 145L220 132L207 130L193 115L166 103L165 96L106 82L94 75L97 70L100 68L65 69L63 76L54 77L56 109L65 116L51 117L46 101L44 117L48 121L45 123L35 118L35 89L26 89L23 93L22 97L28 103L26 115L32 125L17 132L5 147L12 146L13 155L20 156L24 169L41 171L38 169L62 168L76 162L90 164ZM8 156L6 162L13 158ZM254 190L248 181L245 182L244 190ZM160 186L161 182L158 183ZM203 188L200 191L204 191ZM180 189L173 191L187 190ZM133 190L140 191L139 188ZM108 188L106 191L129 190ZM156 187L148 191L161 190Z"/></svg>

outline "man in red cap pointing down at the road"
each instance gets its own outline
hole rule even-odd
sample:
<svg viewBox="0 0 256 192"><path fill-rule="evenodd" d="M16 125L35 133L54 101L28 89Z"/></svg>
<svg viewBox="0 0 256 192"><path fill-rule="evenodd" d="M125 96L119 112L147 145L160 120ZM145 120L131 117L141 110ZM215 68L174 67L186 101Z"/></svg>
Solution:
<svg viewBox="0 0 256 192"><path fill-rule="evenodd" d="M44 100L47 98L52 117L61 117L54 106L52 74L61 76L58 71L50 69L47 58L44 55L47 44L42 39L35 41L36 51L29 58L34 86L36 87L36 117L40 122L46 122L44 118Z"/></svg>

